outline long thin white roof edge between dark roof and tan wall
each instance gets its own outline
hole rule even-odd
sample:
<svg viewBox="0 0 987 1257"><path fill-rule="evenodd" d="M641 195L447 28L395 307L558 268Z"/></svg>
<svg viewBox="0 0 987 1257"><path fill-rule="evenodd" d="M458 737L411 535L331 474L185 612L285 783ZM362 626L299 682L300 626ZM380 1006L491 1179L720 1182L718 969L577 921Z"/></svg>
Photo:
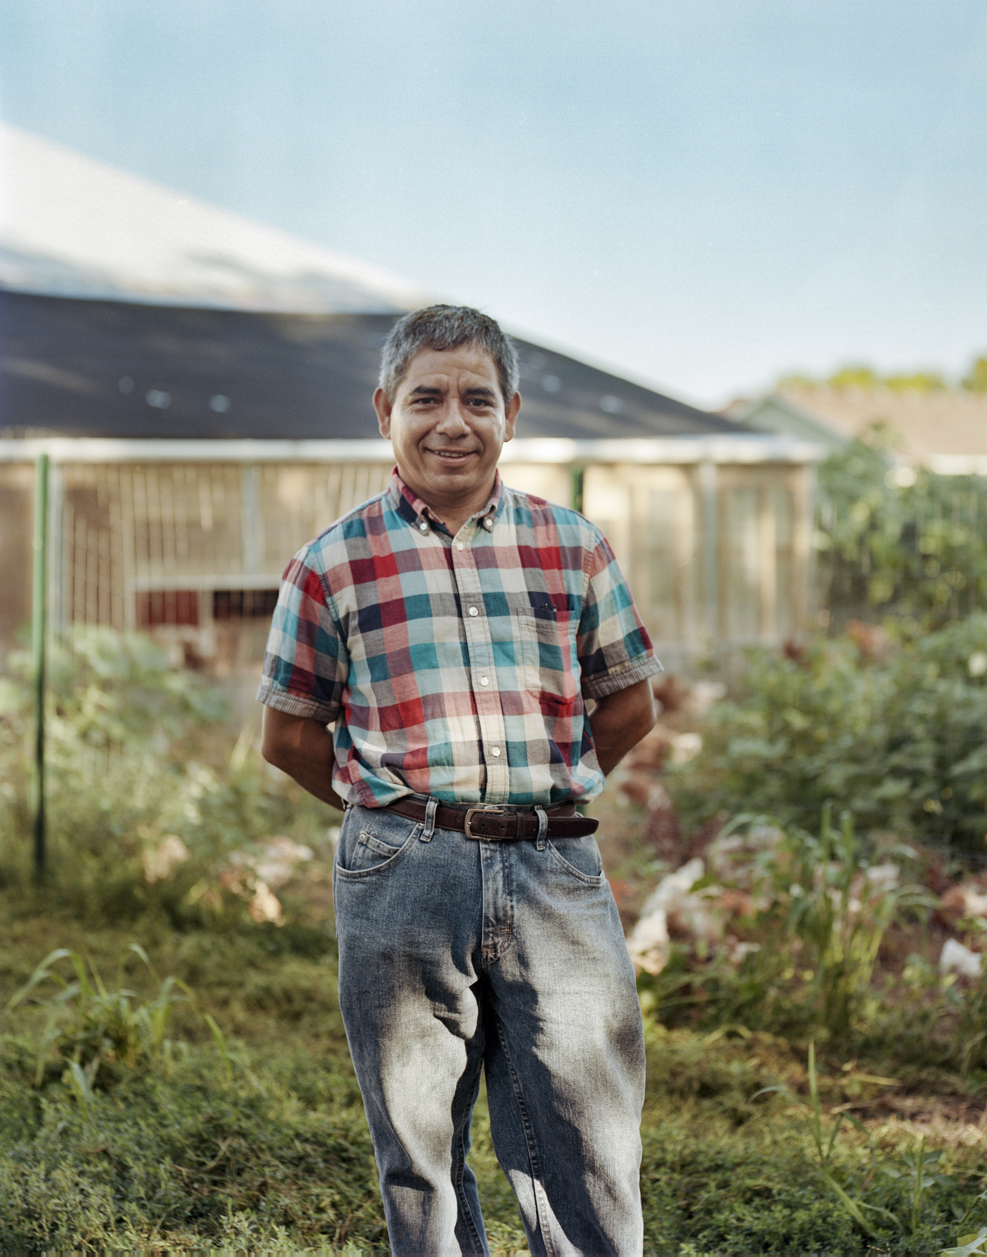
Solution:
<svg viewBox="0 0 987 1257"><path fill-rule="evenodd" d="M391 463L389 441L141 440L45 436L0 440L0 463ZM819 463L821 445L771 436L668 436L612 440L521 437L502 463ZM963 473L966 474L966 473Z"/></svg>

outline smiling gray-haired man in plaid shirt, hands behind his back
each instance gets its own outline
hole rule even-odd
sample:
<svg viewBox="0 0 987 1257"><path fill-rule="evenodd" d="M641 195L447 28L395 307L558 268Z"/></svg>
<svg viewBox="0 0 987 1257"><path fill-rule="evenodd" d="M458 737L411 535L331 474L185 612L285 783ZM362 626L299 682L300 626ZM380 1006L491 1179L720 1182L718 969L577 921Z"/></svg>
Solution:
<svg viewBox="0 0 987 1257"><path fill-rule="evenodd" d="M391 486L288 566L259 694L265 758L345 806L339 1003L398 1257L487 1252L481 1070L531 1252L643 1243L640 1013L575 804L654 724L661 664L599 530L501 481L520 405L492 319L396 323Z"/></svg>

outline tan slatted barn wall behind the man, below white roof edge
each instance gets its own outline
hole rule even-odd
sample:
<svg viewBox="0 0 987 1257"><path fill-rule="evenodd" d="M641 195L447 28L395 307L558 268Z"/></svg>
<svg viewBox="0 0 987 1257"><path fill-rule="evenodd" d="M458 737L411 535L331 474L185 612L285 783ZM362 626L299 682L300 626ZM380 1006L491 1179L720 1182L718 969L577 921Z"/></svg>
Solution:
<svg viewBox="0 0 987 1257"><path fill-rule="evenodd" d="M255 669L290 556L389 475L386 463L58 466L53 627L151 631L176 660ZM566 465L510 464L504 476L571 500ZM0 466L5 646L30 615L31 493L30 466ZM583 480L583 509L673 667L809 627L810 495L810 469L790 464L589 465Z"/></svg>

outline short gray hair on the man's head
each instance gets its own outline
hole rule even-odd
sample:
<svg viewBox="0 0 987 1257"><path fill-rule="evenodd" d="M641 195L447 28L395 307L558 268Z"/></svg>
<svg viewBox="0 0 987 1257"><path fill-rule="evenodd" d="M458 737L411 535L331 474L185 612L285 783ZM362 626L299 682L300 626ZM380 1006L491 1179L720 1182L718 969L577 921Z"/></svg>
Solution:
<svg viewBox="0 0 987 1257"><path fill-rule="evenodd" d="M517 392L517 351L499 323L470 305L426 305L399 318L380 351L378 383L393 402L416 353L458 349L462 344L485 349L491 356L507 405Z"/></svg>

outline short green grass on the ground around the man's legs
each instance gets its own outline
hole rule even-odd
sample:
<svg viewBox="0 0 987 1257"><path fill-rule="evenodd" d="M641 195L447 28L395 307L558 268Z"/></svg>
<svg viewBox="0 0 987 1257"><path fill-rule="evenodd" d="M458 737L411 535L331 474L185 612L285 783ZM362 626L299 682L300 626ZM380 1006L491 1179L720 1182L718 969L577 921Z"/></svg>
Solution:
<svg viewBox="0 0 987 1257"><path fill-rule="evenodd" d="M153 916L87 928L9 894L0 908L4 1001L29 980L53 939L104 974L139 939L157 974L187 982L196 997L171 1006L168 1052L100 1066L88 1097L73 1086L65 1056L48 1060L35 1086L48 1008L25 1002L5 1016L3 1248L387 1251L328 933L293 941L272 926L217 933ZM162 979L137 960L124 980L134 1006L159 994ZM203 1013L221 1029L225 1052ZM972 1080L899 1070L900 1085L888 1087L868 1081L860 1062L848 1071L846 1062L825 1060L814 1119L807 1062L782 1038L668 1029L648 1018L648 1060L642 1188L649 1253L938 1252L963 1233L964 1214L966 1232L987 1222L977 1202L983 1096ZM787 1091L757 1095L776 1086ZM903 1116L887 1106L889 1092L897 1101L918 1094L930 1109ZM826 1172L870 1207L873 1234L820 1174L814 1120L828 1140L829 1111L848 1095L865 1133L841 1129ZM923 1138L925 1155L942 1159L915 1208L907 1158ZM524 1252L482 1101L472 1161L491 1247Z"/></svg>

